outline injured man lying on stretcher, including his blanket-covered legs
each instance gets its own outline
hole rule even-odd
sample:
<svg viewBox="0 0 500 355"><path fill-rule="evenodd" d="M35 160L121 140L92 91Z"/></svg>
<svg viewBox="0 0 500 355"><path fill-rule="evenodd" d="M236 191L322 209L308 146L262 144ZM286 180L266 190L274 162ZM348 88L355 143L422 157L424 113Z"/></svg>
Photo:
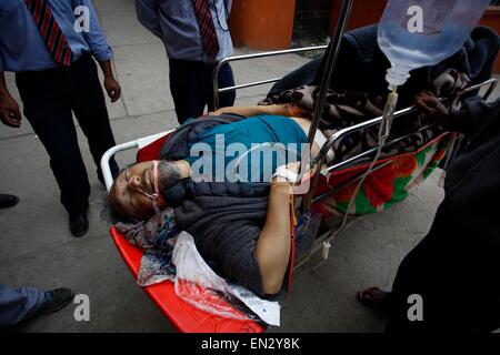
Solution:
<svg viewBox="0 0 500 355"><path fill-rule="evenodd" d="M400 109L422 90L453 104L461 90L490 78L497 47L493 31L476 29L456 55L412 72L399 90ZM178 128L159 161L129 166L117 178L110 193L114 214L146 221L171 207L179 230L193 236L198 252L221 276L260 296L279 293L290 263L292 170L302 156L311 124L304 116L316 106L324 72L311 64L326 63L312 61L284 77L261 105L222 109ZM333 133L382 114L388 65L376 26L346 34L319 123L322 133L304 156L316 156ZM388 141L404 139L384 148L381 159L416 152L441 133L424 115L409 113L393 122ZM377 142L378 128L359 131L337 142L327 162L349 160ZM272 158L259 160L266 151Z"/></svg>

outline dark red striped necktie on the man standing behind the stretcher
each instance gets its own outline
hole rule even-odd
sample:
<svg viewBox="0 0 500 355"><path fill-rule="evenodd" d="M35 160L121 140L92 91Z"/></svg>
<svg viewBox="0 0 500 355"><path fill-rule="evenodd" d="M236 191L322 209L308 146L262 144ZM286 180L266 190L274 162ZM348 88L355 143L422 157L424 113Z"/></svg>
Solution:
<svg viewBox="0 0 500 355"><path fill-rule="evenodd" d="M210 12L210 0L193 0L193 2L203 51L210 59L216 60L220 48L212 13Z"/></svg>

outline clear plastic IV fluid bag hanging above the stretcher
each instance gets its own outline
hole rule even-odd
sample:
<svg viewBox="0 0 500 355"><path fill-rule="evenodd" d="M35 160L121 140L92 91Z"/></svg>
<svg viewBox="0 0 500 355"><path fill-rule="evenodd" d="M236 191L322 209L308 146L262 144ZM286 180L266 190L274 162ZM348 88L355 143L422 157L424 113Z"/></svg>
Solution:
<svg viewBox="0 0 500 355"><path fill-rule="evenodd" d="M434 65L466 43L491 0L389 0L378 43L391 62L387 81L403 84L409 71Z"/></svg>

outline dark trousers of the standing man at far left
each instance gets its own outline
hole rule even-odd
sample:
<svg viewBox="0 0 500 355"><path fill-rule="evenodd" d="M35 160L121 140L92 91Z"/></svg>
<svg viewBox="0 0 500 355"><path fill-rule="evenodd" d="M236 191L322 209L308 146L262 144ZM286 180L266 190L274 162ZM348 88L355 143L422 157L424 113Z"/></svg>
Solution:
<svg viewBox="0 0 500 355"><path fill-rule="evenodd" d="M69 68L19 72L16 82L24 115L49 153L61 203L69 213L87 211L90 185L72 113L87 136L101 181L100 159L116 144L96 63L83 55ZM112 170L118 171L114 161Z"/></svg>

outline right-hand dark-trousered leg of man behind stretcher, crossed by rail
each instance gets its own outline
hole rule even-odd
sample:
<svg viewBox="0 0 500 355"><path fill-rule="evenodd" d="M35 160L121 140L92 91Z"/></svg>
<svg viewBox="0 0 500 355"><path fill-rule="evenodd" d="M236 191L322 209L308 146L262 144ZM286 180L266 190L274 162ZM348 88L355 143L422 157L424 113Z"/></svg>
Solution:
<svg viewBox="0 0 500 355"><path fill-rule="evenodd" d="M213 106L213 65L208 65L206 71L206 95L209 111L214 111ZM226 63L219 71L219 89L234 87L234 77L231 65ZM219 94L219 108L228 108L234 105L236 90L222 92Z"/></svg>

